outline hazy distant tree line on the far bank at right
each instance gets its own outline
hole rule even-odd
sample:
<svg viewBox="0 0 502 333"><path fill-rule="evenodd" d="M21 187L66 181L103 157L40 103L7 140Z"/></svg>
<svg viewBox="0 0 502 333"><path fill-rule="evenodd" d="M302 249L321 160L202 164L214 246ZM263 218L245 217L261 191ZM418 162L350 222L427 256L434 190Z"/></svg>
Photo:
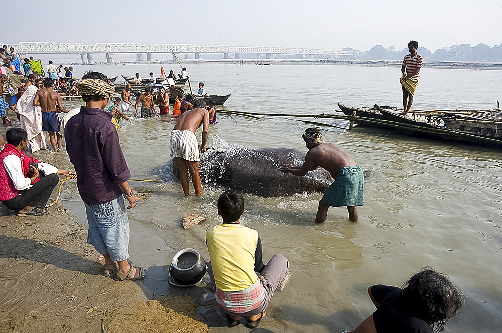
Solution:
<svg viewBox="0 0 502 333"><path fill-rule="evenodd" d="M343 51L354 51L345 48ZM426 48L419 46L417 52L430 61L492 61L502 62L502 44L490 48L486 44L470 46L469 44L453 45L449 48L442 48L431 53ZM384 48L382 45L375 45L369 51L360 53L358 59L367 60L402 60L408 54L408 48L396 51L394 46Z"/></svg>

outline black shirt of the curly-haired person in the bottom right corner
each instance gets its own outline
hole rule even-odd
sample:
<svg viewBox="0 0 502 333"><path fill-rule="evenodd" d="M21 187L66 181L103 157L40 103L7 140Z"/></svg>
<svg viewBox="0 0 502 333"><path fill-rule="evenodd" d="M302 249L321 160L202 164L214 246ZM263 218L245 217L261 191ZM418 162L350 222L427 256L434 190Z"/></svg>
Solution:
<svg viewBox="0 0 502 333"><path fill-rule="evenodd" d="M373 312L377 333L433 333L431 325L416 315L414 304L403 296L403 289L376 284L371 296L380 304Z"/></svg>

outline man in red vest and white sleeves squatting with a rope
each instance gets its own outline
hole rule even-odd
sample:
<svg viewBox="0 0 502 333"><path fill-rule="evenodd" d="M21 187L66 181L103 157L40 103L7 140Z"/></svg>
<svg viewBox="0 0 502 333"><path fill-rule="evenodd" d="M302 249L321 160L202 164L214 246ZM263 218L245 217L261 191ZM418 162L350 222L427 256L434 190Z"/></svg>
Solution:
<svg viewBox="0 0 502 333"><path fill-rule="evenodd" d="M18 210L18 216L49 214L45 205L58 184L56 174L73 179L77 175L26 155L23 150L28 134L24 129L11 128L6 139L7 144L0 152L0 201L7 208Z"/></svg>

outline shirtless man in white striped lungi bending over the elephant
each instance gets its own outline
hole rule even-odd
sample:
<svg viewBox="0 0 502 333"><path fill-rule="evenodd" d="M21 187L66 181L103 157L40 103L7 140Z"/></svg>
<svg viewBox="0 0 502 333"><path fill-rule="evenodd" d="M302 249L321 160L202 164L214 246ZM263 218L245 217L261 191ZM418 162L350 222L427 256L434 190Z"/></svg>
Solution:
<svg viewBox="0 0 502 333"><path fill-rule="evenodd" d="M185 196L190 195L188 188L188 173L192 176L195 195L202 194L199 175L199 149L195 131L202 125L202 142L200 152L206 151L207 137L209 136L209 114L205 109L205 102L197 100L195 108L182 114L171 132L169 143L173 165L180 170L181 187Z"/></svg>

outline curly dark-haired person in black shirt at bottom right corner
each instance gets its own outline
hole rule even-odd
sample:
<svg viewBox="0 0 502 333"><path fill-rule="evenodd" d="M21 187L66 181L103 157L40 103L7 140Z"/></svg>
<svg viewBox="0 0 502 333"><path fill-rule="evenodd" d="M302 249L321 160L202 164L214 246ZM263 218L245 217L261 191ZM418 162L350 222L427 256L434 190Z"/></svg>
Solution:
<svg viewBox="0 0 502 333"><path fill-rule="evenodd" d="M429 267L413 275L403 289L376 284L368 294L376 311L349 333L441 332L464 302L448 276Z"/></svg>

